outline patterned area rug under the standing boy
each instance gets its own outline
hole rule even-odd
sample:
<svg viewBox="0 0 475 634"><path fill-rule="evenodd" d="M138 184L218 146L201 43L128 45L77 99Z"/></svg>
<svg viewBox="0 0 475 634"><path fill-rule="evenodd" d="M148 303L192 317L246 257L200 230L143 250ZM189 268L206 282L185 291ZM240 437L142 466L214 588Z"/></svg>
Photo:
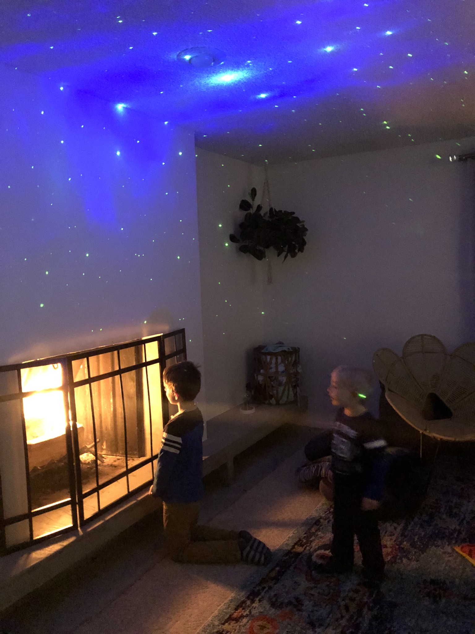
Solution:
<svg viewBox="0 0 475 634"><path fill-rule="evenodd" d="M381 524L386 579L379 590L362 585L358 552L354 573L307 569L308 553L331 541L331 507L320 505L280 559L200 634L474 634L475 569L453 548L474 542L474 485L473 463L439 457L417 515Z"/></svg>

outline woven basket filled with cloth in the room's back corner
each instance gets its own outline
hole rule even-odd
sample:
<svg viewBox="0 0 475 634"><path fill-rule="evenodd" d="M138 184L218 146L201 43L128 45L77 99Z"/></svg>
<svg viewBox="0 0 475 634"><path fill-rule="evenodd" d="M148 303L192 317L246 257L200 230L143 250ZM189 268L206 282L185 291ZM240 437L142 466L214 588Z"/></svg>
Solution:
<svg viewBox="0 0 475 634"><path fill-rule="evenodd" d="M277 353L254 349L254 392L258 403L283 405L298 403L300 348Z"/></svg>

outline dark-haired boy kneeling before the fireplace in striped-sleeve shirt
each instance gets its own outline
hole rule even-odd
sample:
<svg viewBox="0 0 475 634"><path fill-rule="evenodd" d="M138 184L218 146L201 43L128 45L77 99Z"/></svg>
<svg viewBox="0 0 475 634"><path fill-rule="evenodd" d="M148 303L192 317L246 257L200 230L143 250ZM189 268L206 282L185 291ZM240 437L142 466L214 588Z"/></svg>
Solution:
<svg viewBox="0 0 475 634"><path fill-rule="evenodd" d="M163 429L150 495L163 500L163 528L170 559L188 564L267 565L269 548L248 531L226 531L200 526L203 499L203 417L194 403L201 389L201 373L191 361L163 371L163 384L178 413Z"/></svg>

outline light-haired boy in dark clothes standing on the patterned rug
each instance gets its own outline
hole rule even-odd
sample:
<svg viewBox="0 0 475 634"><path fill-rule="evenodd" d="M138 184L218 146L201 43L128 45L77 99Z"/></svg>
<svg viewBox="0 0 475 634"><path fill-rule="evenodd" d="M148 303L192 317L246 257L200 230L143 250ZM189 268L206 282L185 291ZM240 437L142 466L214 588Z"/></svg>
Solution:
<svg viewBox="0 0 475 634"><path fill-rule="evenodd" d="M376 510L385 475L383 463L375 458L386 447L386 441L364 405L364 399L371 392L372 376L366 370L339 366L331 374L328 393L332 403L340 406L329 447L334 488L333 540L327 562L310 559L309 563L312 569L323 574L351 571L356 534L364 581L374 586L380 583L384 572ZM319 443L323 441L320 437ZM306 453L312 453L312 447L306 449Z"/></svg>

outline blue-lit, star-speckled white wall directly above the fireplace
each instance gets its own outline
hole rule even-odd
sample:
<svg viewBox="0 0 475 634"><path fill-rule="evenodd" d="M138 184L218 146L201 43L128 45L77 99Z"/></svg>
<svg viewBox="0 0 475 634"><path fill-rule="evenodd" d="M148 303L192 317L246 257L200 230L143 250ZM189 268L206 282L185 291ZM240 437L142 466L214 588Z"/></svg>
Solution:
<svg viewBox="0 0 475 634"><path fill-rule="evenodd" d="M0 363L183 326L202 362L193 134L0 72Z"/></svg>

